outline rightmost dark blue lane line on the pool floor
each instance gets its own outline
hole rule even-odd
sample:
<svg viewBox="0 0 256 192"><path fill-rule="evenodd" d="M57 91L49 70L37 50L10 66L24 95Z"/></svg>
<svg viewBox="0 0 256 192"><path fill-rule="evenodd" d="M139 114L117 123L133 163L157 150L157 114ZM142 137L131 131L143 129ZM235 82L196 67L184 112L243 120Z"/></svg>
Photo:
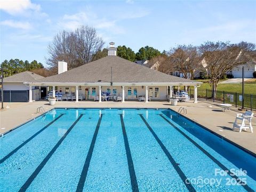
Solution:
<svg viewBox="0 0 256 192"><path fill-rule="evenodd" d="M193 139L188 137L184 132L182 132L177 126L171 123L167 118L165 118L162 114L160 115L167 123L174 127L175 130L180 132L186 139L188 139L191 143L193 143L198 149L200 149L207 157L209 157L214 163L216 163L222 170L226 171L230 177L236 179L237 183L239 183L246 191L254 191L251 187L247 186L241 179L239 179L235 174L231 173L230 170L220 163L215 157L213 157L210 153L208 153L203 147L199 146Z"/></svg>

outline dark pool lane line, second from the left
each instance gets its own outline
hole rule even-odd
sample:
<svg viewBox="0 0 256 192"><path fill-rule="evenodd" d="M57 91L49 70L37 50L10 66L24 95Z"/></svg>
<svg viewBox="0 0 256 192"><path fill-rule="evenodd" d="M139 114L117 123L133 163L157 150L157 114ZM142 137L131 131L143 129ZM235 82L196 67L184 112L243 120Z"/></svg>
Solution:
<svg viewBox="0 0 256 192"><path fill-rule="evenodd" d="M58 149L58 147L60 146L60 144L62 143L62 141L67 137L67 135L70 133L70 131L74 128L74 126L77 124L77 122L81 119L81 117L84 114L81 114L76 121L69 127L69 129L67 130L67 132L61 137L61 139L57 142L57 144L52 148L52 150L50 151L50 153L44 158L44 160L38 165L38 167L36 168L36 170L30 175L30 177L28 178L28 180L24 183L24 185L20 188L20 192L21 191L26 191L28 189L28 187L31 185L31 183L34 181L34 179L36 178L36 176L38 175L38 173L43 169L44 165L49 161L49 159L51 158L51 156L54 154L54 152ZM39 190L39 189L38 189Z"/></svg>

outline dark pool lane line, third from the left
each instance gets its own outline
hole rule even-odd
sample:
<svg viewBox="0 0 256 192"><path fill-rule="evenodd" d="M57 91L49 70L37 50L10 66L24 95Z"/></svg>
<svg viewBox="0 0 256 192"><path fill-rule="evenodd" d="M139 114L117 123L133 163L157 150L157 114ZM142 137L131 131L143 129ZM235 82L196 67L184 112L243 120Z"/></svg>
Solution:
<svg viewBox="0 0 256 192"><path fill-rule="evenodd" d="M91 142L89 151L87 153L87 156L86 156L86 159L85 159L85 162L84 162L83 170L82 170L80 179L78 181L76 191L83 191L84 183L85 183L85 180L86 180L86 177L87 177L87 172L88 172L90 162L91 162L91 158L92 158L93 149L94 149L95 142L96 142L96 139L97 139L97 135L98 135L98 132L99 132L99 129L100 129L101 119L102 119L102 114L100 115L98 124L96 126L95 131L94 131L92 142Z"/></svg>

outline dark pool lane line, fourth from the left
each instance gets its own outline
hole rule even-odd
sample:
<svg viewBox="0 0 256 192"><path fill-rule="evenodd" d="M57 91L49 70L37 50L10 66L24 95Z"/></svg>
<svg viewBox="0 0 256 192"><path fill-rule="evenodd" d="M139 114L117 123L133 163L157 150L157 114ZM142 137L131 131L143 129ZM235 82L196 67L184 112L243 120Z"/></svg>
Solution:
<svg viewBox="0 0 256 192"><path fill-rule="evenodd" d="M137 178L136 178L136 174L135 174L135 170L134 170L134 166L133 166L132 155L131 155L131 150L130 150L127 134L125 131L124 119L123 119L122 114L119 114L119 115L121 118L123 137L124 137L124 146L125 146L128 168L129 168L129 173L130 173L132 191L137 192L137 191L139 191L138 182L137 182Z"/></svg>

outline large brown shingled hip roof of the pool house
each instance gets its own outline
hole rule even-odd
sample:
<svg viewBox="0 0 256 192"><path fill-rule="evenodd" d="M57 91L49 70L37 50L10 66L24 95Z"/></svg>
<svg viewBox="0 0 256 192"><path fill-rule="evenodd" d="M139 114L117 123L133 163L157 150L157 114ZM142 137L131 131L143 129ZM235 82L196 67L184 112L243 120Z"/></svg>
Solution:
<svg viewBox="0 0 256 192"><path fill-rule="evenodd" d="M175 77L159 71L138 65L129 60L107 56L64 73L38 79L38 83L97 83L111 82L111 67L113 82L116 83L192 83L189 79ZM36 83L35 82L35 83ZM30 82L28 82L30 83Z"/></svg>

